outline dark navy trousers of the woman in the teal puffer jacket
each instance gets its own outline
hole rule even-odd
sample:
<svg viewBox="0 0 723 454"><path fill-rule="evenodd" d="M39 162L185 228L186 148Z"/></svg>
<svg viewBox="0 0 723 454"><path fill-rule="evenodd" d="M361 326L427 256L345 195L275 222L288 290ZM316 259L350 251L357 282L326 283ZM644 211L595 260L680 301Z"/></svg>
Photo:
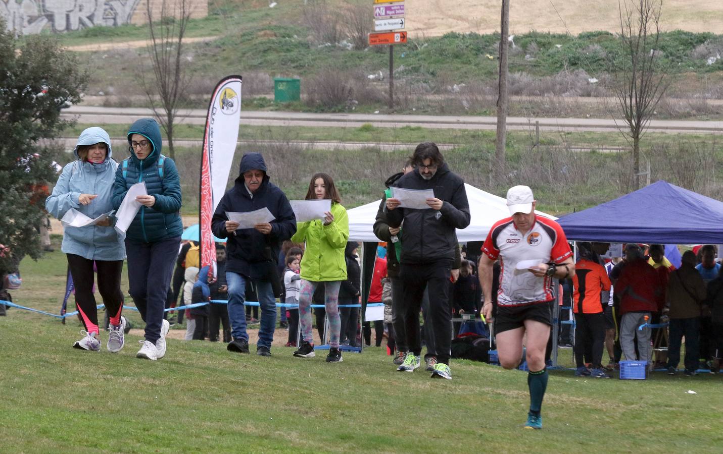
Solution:
<svg viewBox="0 0 723 454"><path fill-rule="evenodd" d="M171 288L181 237L155 243L126 240L128 292L145 321L145 340L155 344L161 337L163 310Z"/></svg>

